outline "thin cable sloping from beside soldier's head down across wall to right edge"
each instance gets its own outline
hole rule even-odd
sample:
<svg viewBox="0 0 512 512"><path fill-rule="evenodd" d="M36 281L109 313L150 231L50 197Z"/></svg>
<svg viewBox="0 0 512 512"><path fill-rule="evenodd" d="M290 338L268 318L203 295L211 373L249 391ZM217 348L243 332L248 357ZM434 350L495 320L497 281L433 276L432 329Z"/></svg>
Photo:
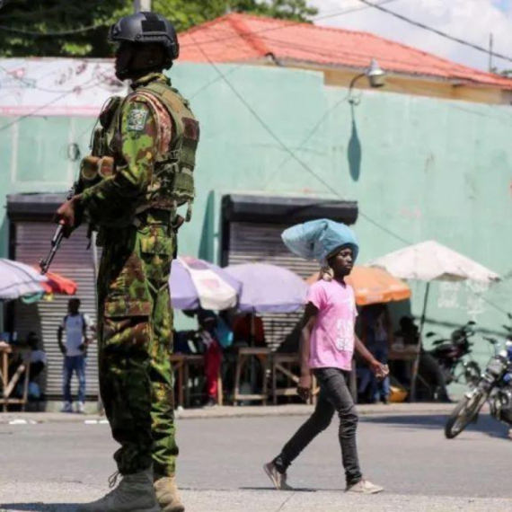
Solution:
<svg viewBox="0 0 512 512"><path fill-rule="evenodd" d="M192 40L194 40L193 36L192 37ZM195 41L195 40L194 40ZM338 192L338 190L335 190L332 186L331 186L331 183L329 183L328 181L325 181L322 176L320 176L317 172L314 172L313 169L307 164L305 163L303 160L301 160L294 151L292 151L282 140L280 137L278 137L278 135L272 130L272 128L269 127L268 123L262 119L260 117L260 115L258 114L258 112L256 112L256 110L254 110L251 106L251 104L249 102L247 102L245 100L245 98L243 97L243 94L239 93L238 90L234 87L234 85L226 78L226 76L222 73L222 71L218 68L218 66L216 66L216 63L213 62L208 56L207 56L207 53L204 51L204 49L202 49L201 47L201 43L196 42L196 45L197 47L199 48L199 51L207 58L207 61L210 63L211 66L213 66L216 70L216 73L222 78L222 80L225 82L225 84L231 89L231 91L234 93L234 95L243 103L243 105L245 106L245 108L247 110L249 110L251 113L252 113L252 116L258 120L258 122L260 123L260 125L265 128L265 130L269 133L270 137L274 138L274 140L278 143L279 146L281 146L283 148L284 151L286 151L287 154L289 154L289 156L291 158L293 158L294 160L296 160L297 163L299 163L301 165L301 167L303 167L307 172L309 172L310 174L312 174L318 181L320 181L326 188L328 188L329 190L331 190L335 196L337 196L338 198L340 198L341 200L346 200L344 198L342 198L340 196L340 193ZM395 238L396 240L399 240L401 243L405 243L406 245L411 245L412 243L408 240L406 240L405 238L403 238L400 234L396 234L394 233L392 230L388 229L387 227L385 227L384 225L381 225L380 223L378 223L377 221L375 221L373 218L371 218L370 216L367 216L364 212L362 212L361 210L359 210L359 215L362 216L363 218L366 219L367 222L369 222L370 224L372 225L375 225L375 227L377 227L378 229L380 229L381 231L383 231L384 233L386 234L389 234L390 236L392 236L393 238ZM494 303L492 303L489 299L487 299L486 297L482 296L481 294L478 294L477 292L474 292L470 289L470 292L474 295L474 296L477 296L479 298L481 298L482 300L484 300L487 304L491 305L492 307L494 307L497 311L499 311L500 313L504 313L504 314L507 314L508 312L505 311L503 308L499 307L499 305L495 305Z"/></svg>

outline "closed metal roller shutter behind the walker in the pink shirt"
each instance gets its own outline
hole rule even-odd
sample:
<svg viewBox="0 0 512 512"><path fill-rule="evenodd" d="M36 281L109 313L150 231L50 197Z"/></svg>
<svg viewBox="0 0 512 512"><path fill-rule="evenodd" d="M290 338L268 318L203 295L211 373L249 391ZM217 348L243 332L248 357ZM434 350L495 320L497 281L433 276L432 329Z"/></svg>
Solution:
<svg viewBox="0 0 512 512"><path fill-rule="evenodd" d="M304 260L288 251L281 240L281 233L289 225L232 222L229 224L229 265L266 262L293 270L307 278L319 269L318 263ZM272 313L262 315L269 347L277 349L300 320L297 313Z"/></svg>

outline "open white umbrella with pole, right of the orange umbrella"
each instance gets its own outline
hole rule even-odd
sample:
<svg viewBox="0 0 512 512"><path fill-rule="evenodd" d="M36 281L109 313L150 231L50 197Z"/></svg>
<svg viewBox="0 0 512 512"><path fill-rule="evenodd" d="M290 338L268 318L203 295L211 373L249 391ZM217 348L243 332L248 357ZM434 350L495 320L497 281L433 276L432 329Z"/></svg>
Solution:
<svg viewBox="0 0 512 512"><path fill-rule="evenodd" d="M370 266L384 269L395 278L427 282L419 333L423 331L425 324L431 281L461 281L467 279L490 283L499 280L499 275L492 270L486 269L480 263L470 260L463 254L448 249L445 245L434 240L416 243L399 251L390 252L378 260L371 261ZM410 390L412 399L414 399L416 391L415 381L418 365L419 354L413 370L414 378Z"/></svg>

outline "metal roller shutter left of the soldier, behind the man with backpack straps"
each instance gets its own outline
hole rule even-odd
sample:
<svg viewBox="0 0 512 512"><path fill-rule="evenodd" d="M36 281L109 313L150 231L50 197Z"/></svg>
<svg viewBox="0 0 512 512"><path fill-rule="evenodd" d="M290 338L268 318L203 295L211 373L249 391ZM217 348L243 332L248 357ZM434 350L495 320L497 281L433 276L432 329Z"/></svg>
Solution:
<svg viewBox="0 0 512 512"><path fill-rule="evenodd" d="M49 252L50 240L55 225L48 222L15 223L15 259L37 266L41 257ZM81 300L81 313L96 322L96 294L93 250L87 250L86 227L80 227L73 236L64 240L51 270L78 285L76 296ZM50 302L42 300L33 305L16 301L14 306L14 329L20 337L36 331L48 354L46 375L42 375L42 389L49 399L62 398L62 354L57 345L57 328L67 312L69 296L54 296ZM90 346L87 358L87 396L98 396L98 358L96 343ZM76 379L74 379L75 381ZM73 393L76 393L74 382Z"/></svg>

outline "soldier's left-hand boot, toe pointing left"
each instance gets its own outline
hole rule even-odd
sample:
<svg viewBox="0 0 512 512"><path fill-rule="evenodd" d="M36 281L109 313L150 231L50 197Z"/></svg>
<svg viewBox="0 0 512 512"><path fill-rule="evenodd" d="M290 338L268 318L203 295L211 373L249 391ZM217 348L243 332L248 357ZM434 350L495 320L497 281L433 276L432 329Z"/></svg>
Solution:
<svg viewBox="0 0 512 512"><path fill-rule="evenodd" d="M110 482L116 484L117 474ZM116 489L92 503L79 505L77 512L160 512L153 488L153 468L127 474Z"/></svg>

